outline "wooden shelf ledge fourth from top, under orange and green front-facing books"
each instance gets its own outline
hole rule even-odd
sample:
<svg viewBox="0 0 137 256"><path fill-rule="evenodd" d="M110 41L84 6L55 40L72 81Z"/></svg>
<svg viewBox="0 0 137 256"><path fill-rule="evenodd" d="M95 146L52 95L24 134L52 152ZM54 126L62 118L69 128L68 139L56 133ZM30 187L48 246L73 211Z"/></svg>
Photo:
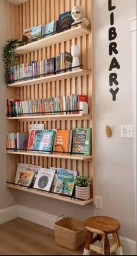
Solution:
<svg viewBox="0 0 137 256"><path fill-rule="evenodd" d="M37 153L31 151L6 151L7 154L14 154L14 155L33 155L34 157L51 157L51 158L62 158L62 159L75 159L81 161L90 161L92 159L92 155L59 155L59 154L44 154L44 153Z"/></svg>

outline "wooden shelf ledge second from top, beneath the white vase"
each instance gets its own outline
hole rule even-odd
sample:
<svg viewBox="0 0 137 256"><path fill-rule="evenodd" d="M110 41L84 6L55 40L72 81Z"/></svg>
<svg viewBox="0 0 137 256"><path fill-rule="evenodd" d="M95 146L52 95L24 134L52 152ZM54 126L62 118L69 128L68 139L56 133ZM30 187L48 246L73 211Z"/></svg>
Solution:
<svg viewBox="0 0 137 256"><path fill-rule="evenodd" d="M37 79L31 79L27 81L21 81L18 83L7 84L7 87L33 86L34 84L49 83L49 82L54 82L58 80L69 79L72 77L85 76L88 74L91 74L90 70L77 69L69 72L64 72L61 74L53 74L52 76L44 76L44 77L39 77Z"/></svg>

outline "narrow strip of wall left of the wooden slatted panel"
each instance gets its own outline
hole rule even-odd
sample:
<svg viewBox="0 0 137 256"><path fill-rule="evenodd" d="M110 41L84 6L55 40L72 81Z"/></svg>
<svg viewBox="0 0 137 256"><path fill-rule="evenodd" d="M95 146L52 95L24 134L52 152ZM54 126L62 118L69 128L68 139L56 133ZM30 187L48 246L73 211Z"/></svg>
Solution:
<svg viewBox="0 0 137 256"><path fill-rule="evenodd" d="M0 0L0 210L3 208L12 198L16 191L6 190L6 122L5 122L5 115L6 115L6 87L5 82L3 79L3 61L2 61L2 54L3 54L3 46L5 43L5 28L4 28L4 2ZM8 206L14 205L15 201L11 201ZM0 212L1 214L1 212ZM0 220L1 221L1 220Z"/></svg>

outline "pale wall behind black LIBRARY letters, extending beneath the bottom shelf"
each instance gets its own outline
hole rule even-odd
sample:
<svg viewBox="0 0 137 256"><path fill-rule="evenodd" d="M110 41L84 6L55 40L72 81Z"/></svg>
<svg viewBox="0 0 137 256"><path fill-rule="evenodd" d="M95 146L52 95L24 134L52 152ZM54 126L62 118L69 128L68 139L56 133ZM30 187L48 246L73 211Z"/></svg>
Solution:
<svg viewBox="0 0 137 256"><path fill-rule="evenodd" d="M120 138L120 126L132 125L132 60L129 18L136 15L135 0L113 0L114 27L117 30L118 74L116 101L109 92L109 27L107 0L93 0L93 44L95 86L95 172L96 194L102 196L102 210L81 207L38 195L19 193L19 204L53 215L85 219L109 215L121 223L120 235L135 240L134 139ZM113 135L106 137L106 125Z"/></svg>

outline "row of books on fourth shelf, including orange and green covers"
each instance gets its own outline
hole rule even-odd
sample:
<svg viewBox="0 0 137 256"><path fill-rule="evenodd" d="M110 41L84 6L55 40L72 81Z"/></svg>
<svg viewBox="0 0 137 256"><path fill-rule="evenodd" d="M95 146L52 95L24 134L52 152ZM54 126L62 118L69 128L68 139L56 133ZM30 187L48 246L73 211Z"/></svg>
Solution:
<svg viewBox="0 0 137 256"><path fill-rule="evenodd" d="M8 150L28 150L44 154L91 155L91 128L73 130L30 129L30 133L7 133Z"/></svg>

